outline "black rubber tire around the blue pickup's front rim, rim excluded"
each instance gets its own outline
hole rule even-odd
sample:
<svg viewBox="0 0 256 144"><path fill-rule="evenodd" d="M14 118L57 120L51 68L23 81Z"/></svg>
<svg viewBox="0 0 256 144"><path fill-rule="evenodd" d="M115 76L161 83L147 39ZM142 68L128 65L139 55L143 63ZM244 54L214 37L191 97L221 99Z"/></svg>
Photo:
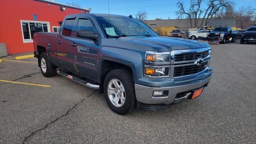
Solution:
<svg viewBox="0 0 256 144"><path fill-rule="evenodd" d="M108 96L108 84L110 80L112 79L118 79L123 85L125 89L125 102L121 107L114 106L112 102L110 101L110 98ZM129 70L126 69L116 69L110 71L104 80L104 96L106 99L106 102L110 109L117 114L127 114L130 110L135 108L136 104L136 95L134 90L134 82L132 73Z"/></svg>

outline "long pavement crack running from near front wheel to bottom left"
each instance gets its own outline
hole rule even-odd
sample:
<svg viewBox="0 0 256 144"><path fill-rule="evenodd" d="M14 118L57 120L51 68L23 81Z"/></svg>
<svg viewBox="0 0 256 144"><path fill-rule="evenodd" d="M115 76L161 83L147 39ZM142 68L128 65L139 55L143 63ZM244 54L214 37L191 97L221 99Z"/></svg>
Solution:
<svg viewBox="0 0 256 144"><path fill-rule="evenodd" d="M94 94L96 91L97 91L97 90L94 90L94 92L92 92L91 94L89 94L89 96L91 96L92 94ZM88 98L89 96L86 96L86 98ZM68 112L70 112L70 110L74 109L78 104L80 104L81 102L83 102L86 98L82 99L80 102L78 102L77 104L75 104L71 109L69 109L69 110L66 112L66 114L64 114L64 115L62 115L62 116L56 118L55 120L53 120L53 121L49 122L48 124L46 124L43 128L40 128L40 129L38 129L38 130L32 132L30 135L26 136L26 138L24 138L24 140L22 141L22 144L25 144L26 140L28 140L28 138L30 138L31 136L33 136L36 132L39 132L39 131L41 131L41 130L47 128L50 124L56 122L58 119L60 119L60 118L62 118L62 117L64 117L64 116L66 116L66 115L68 114Z"/></svg>

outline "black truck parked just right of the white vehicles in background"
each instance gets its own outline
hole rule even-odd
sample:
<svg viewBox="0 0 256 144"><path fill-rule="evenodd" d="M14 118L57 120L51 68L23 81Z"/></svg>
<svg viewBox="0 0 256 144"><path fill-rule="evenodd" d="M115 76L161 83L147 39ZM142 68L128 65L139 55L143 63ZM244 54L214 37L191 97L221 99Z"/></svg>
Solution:
<svg viewBox="0 0 256 144"><path fill-rule="evenodd" d="M225 44L229 38L232 37L232 28L231 27L216 27L208 34L208 38L218 36L220 42Z"/></svg>

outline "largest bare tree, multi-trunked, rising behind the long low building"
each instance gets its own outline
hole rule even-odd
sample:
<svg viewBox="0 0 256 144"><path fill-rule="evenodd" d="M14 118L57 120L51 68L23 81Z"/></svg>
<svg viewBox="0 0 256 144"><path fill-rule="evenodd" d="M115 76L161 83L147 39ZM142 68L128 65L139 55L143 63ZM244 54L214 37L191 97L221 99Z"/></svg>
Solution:
<svg viewBox="0 0 256 144"><path fill-rule="evenodd" d="M228 0L209 0L206 9L202 9L201 5L202 0L190 0L190 8L186 10L184 4L179 1L177 3L179 10L176 12L176 15L178 18L182 18L182 16L186 15L190 19L191 28L198 27L198 20L202 18L200 26L203 26L209 18L216 16L219 11L229 10L233 3ZM192 24L192 18L195 20L194 26Z"/></svg>

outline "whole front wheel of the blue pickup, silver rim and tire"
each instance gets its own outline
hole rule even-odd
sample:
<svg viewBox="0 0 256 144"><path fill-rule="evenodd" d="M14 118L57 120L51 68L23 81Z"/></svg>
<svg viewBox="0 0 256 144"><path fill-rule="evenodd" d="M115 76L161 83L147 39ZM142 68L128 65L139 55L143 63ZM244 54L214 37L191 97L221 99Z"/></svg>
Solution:
<svg viewBox="0 0 256 144"><path fill-rule="evenodd" d="M108 106L118 114L127 114L135 107L134 82L129 70L110 71L104 80L104 92Z"/></svg>

